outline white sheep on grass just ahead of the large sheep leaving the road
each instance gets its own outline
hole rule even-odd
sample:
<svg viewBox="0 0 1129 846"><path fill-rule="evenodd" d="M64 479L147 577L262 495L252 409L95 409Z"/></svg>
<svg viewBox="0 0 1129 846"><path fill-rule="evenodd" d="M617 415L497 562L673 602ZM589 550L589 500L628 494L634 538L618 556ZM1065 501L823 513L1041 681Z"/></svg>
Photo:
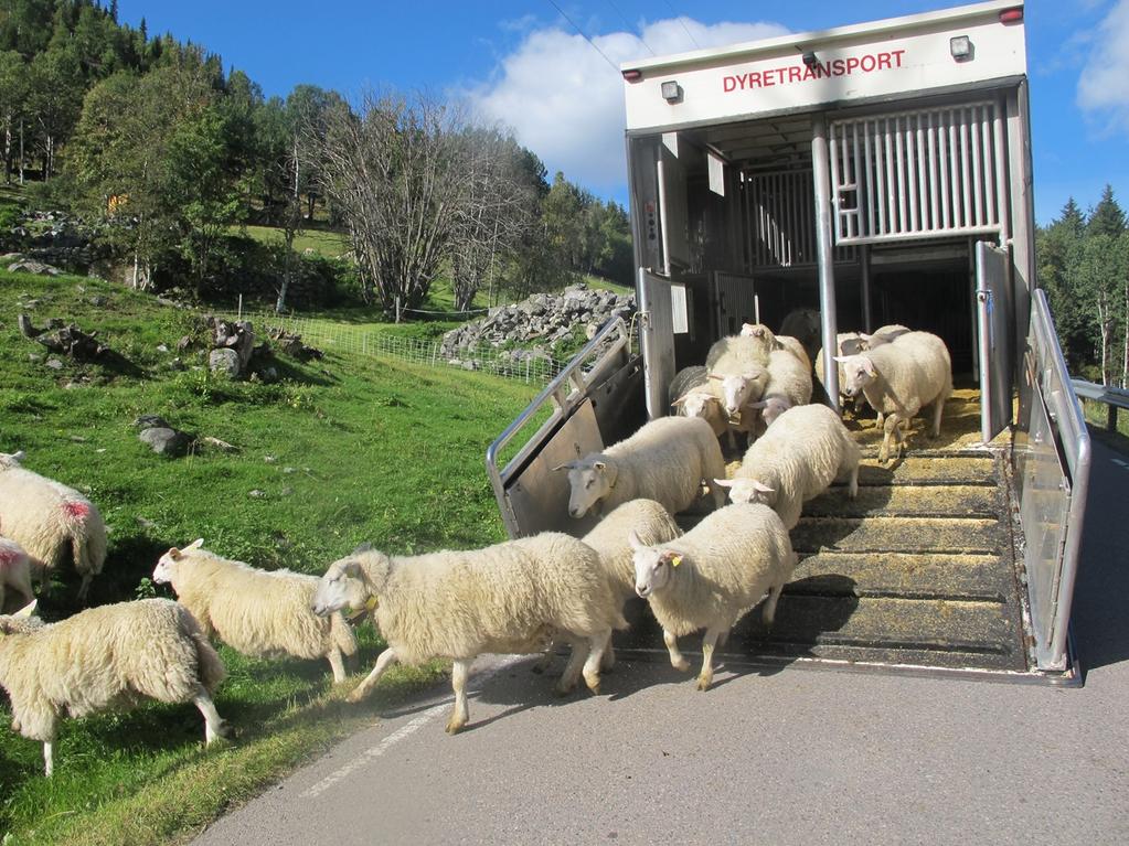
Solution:
<svg viewBox="0 0 1129 846"><path fill-rule="evenodd" d="M204 634L247 655L324 658L334 682L345 680L342 654L355 654L357 641L340 614L323 619L310 610L317 576L255 570L208 552L203 543L199 538L184 549L169 549L152 580L173 585Z"/></svg>

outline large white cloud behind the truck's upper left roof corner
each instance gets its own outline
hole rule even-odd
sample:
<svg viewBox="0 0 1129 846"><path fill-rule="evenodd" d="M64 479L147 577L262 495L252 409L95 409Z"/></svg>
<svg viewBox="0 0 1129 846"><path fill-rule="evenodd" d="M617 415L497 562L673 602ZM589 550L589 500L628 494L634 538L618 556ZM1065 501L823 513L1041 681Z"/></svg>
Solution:
<svg viewBox="0 0 1129 846"><path fill-rule="evenodd" d="M639 33L596 35L597 52L576 33L535 29L501 60L495 80L471 91L471 100L488 120L510 126L518 142L545 162L550 179L562 170L570 182L610 195L627 178L621 62L647 58L650 51L662 55L787 32L778 24L706 25L674 18L645 25Z"/></svg>

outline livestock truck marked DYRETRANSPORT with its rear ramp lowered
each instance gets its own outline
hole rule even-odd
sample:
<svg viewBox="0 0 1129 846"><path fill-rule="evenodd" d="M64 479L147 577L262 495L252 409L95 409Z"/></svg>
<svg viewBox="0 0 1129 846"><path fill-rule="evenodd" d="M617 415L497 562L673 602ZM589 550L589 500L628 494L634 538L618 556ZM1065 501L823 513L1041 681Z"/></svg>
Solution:
<svg viewBox="0 0 1129 846"><path fill-rule="evenodd" d="M658 56L622 76L639 311L605 325L488 450L510 535L586 532L553 468L669 414L674 373L743 323L817 310L833 406L837 332L904 324L952 352L940 438L919 418L904 460L882 466L873 418L848 417L867 456L858 497L833 486L805 505L774 626L749 615L723 656L1080 684L1069 620L1089 441L1034 275L1023 6ZM633 610L619 649L665 658Z"/></svg>

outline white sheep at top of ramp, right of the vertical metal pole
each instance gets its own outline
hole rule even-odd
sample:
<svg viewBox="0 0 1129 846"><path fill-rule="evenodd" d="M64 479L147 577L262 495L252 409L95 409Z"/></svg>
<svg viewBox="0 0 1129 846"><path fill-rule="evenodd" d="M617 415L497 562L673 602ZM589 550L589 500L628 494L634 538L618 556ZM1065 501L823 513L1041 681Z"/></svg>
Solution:
<svg viewBox="0 0 1129 846"><path fill-rule="evenodd" d="M902 455L910 420L930 403L933 437L940 434L940 415L945 400L953 393L953 364L945 342L928 332L909 332L889 344L857 355L838 356L846 373L846 394L861 393L875 411L886 415L878 460L890 458L893 437L898 455Z"/></svg>

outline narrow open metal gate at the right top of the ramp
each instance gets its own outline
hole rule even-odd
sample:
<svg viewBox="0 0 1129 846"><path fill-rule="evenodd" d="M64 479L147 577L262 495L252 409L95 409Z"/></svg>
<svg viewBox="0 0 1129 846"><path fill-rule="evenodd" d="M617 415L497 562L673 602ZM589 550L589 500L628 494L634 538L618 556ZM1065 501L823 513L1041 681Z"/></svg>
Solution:
<svg viewBox="0 0 1129 846"><path fill-rule="evenodd" d="M977 314L980 336L980 437L990 441L1012 423L1015 372L1010 256L988 241L977 241Z"/></svg>

